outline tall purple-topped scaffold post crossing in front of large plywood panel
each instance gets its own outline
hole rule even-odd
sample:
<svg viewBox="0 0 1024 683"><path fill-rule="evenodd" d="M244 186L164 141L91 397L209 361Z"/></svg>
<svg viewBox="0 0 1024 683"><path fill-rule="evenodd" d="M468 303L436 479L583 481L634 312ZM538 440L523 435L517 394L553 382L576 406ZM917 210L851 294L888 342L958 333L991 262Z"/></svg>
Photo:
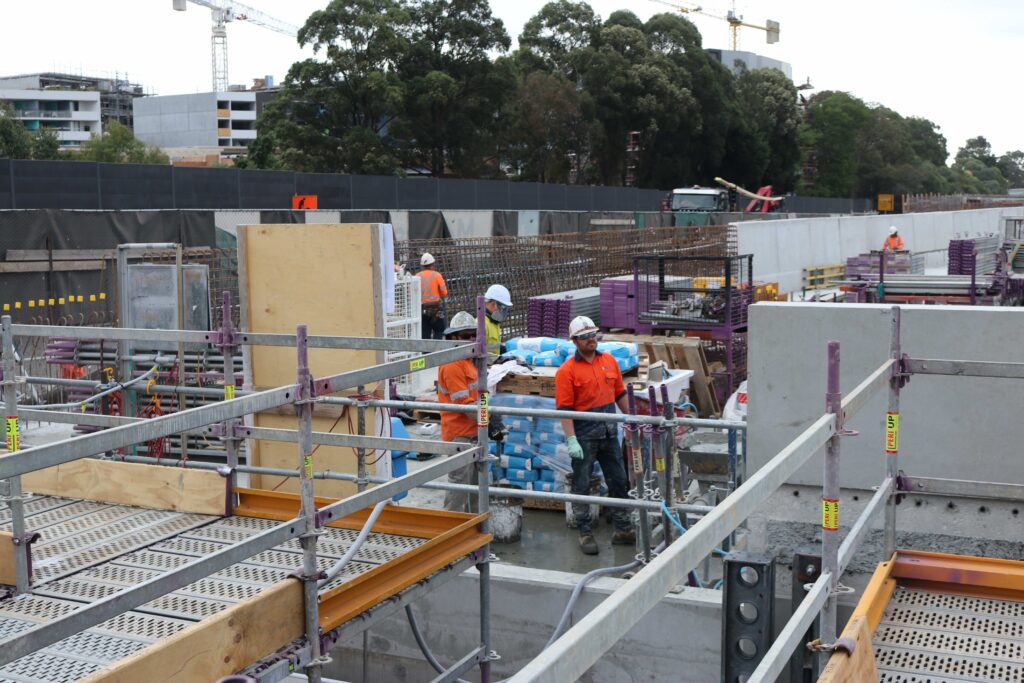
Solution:
<svg viewBox="0 0 1024 683"><path fill-rule="evenodd" d="M306 641L309 643L310 663L306 676L310 683L321 683L324 657L321 652L319 610L317 606L316 583L323 578L316 568L316 505L313 500L313 396L312 376L309 372L309 350L306 343L306 326L296 328L296 353L298 372L295 388L295 404L299 415L299 498L300 514L304 530L299 538L302 546L302 588L305 610Z"/></svg>

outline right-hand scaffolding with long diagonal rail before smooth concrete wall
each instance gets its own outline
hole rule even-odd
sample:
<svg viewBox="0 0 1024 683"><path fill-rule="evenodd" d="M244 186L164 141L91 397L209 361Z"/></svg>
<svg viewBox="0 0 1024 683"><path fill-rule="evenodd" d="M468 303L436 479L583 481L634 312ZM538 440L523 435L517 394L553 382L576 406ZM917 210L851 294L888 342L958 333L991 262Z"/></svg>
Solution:
<svg viewBox="0 0 1024 683"><path fill-rule="evenodd" d="M823 665L837 647L837 600L843 592L840 579L867 535L872 520L884 515L885 549L883 562L895 560L896 503L901 495L915 490L944 492L947 495L974 496L988 499L1020 500L1017 490L993 482L907 477L899 470L900 389L914 376L937 375L953 377L997 377L1024 379L1024 362L999 362L915 358L904 354L900 344L900 308L893 306L890 318L889 359L864 378L852 391L840 391L840 344L828 342L826 353L827 384L823 415L814 420L799 436L781 449L768 463L754 473L731 496L703 516L681 539L668 546L623 588L611 594L598 607L580 620L557 641L542 651L510 681L546 681L558 683L575 680L593 666L630 629L648 613L674 586L693 570L701 558L714 551L723 539L732 533L769 497L824 449L824 474L821 486L822 541L821 570L805 586L806 594L795 605L770 647L765 650L743 650L740 644L723 643L723 663L727 658L743 658L750 666L742 680L757 683L774 682L790 665L798 648L813 646ZM845 428L868 400L888 388L885 416L886 438L880 444L885 475L870 501L856 518L843 542L839 541L840 481L839 465L842 441L856 432ZM969 563L962 562L962 568ZM888 570L887 570L888 571ZM1020 571L1002 569L1002 571ZM886 572L883 572L886 573ZM723 614L723 620L729 618ZM817 643L808 643L808 629L818 625ZM770 627L769 627L770 629ZM731 647L730 647L731 645ZM753 642L750 643L753 646ZM723 668L723 671L725 669ZM886 679L889 680L889 679ZM893 679L896 680L896 679ZM903 680L903 679L900 679ZM909 680L909 679L907 679ZM916 679L914 679L916 680Z"/></svg>

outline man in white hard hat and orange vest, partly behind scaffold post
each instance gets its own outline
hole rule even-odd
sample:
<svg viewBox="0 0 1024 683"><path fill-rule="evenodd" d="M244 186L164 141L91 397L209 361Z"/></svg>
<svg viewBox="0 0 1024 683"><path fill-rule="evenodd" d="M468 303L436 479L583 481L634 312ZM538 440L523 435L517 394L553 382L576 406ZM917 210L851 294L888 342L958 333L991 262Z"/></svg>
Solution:
<svg viewBox="0 0 1024 683"><path fill-rule="evenodd" d="M476 318L464 310L452 316L452 324L444 330L444 338L455 341L476 339ZM486 381L486 377L483 378ZM441 366L437 371L437 401L466 405L475 403L478 393L476 364L472 358L463 358ZM505 426L497 415L490 416L488 427L490 438L502 440ZM441 438L461 443L476 442L476 416L472 413L441 412ZM449 473L452 483L476 485L478 483L476 465L470 463ZM454 512L472 512L470 495L461 490L444 494L444 509Z"/></svg>

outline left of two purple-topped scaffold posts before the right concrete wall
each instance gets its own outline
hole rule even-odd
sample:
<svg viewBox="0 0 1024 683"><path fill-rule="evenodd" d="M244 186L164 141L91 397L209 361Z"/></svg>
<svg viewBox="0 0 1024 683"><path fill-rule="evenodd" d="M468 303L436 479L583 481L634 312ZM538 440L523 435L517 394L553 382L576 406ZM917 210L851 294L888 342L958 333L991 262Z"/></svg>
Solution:
<svg viewBox="0 0 1024 683"><path fill-rule="evenodd" d="M837 596L839 587L839 458L840 439L843 432L843 394L840 393L840 344L828 342L827 389L825 412L835 416L836 430L825 443L824 475L821 483L821 564L828 574L828 598L821 610L821 642L831 645L836 642ZM825 652L822 656L827 656Z"/></svg>

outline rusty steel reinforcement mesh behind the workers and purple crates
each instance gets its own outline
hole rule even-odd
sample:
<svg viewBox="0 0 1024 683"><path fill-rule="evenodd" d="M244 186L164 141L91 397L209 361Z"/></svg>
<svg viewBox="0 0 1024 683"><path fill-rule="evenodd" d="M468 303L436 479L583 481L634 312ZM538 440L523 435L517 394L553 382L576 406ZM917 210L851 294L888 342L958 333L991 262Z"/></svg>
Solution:
<svg viewBox="0 0 1024 683"><path fill-rule="evenodd" d="M604 278L633 272L636 256L733 256L733 225L691 225L592 230L542 237L409 240L395 244L395 259L419 269L429 252L447 283L446 314L474 312L476 297L504 285L513 307L506 337L526 334L526 301L551 292L597 287Z"/></svg>

